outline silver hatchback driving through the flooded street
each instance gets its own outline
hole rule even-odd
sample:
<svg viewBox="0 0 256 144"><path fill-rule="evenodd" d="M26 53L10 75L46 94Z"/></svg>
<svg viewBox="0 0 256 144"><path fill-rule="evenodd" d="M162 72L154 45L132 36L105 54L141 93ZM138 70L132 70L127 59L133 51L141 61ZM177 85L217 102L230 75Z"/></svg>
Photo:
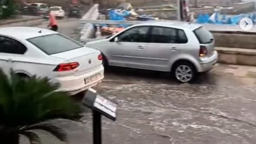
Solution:
<svg viewBox="0 0 256 144"><path fill-rule="evenodd" d="M187 22L133 25L87 46L101 51L105 65L170 71L180 82L212 69L218 59L213 35Z"/></svg>

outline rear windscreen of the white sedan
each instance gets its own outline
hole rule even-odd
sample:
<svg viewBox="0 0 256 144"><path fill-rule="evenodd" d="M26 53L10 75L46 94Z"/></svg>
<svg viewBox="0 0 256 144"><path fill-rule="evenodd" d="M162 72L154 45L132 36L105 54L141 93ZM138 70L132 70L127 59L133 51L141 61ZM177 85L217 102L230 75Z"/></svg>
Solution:
<svg viewBox="0 0 256 144"><path fill-rule="evenodd" d="M62 53L83 47L81 44L64 37L61 34L44 35L41 37L27 39L41 51L48 55Z"/></svg>

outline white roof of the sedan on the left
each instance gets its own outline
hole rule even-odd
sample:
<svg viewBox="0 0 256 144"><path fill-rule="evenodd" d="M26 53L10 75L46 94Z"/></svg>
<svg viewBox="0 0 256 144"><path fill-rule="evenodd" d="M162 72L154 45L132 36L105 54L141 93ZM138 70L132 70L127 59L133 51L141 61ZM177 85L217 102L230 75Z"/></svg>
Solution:
<svg viewBox="0 0 256 144"><path fill-rule="evenodd" d="M0 35L6 35L18 40L26 40L30 38L40 37L58 32L36 27L3 27L0 28Z"/></svg>

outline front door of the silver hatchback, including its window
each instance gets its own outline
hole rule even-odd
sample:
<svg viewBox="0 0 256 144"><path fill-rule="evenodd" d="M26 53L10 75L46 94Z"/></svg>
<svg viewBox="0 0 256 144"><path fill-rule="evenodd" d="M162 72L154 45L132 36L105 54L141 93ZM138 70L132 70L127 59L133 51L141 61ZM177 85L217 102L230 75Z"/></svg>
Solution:
<svg viewBox="0 0 256 144"><path fill-rule="evenodd" d="M150 27L133 27L117 35L110 42L109 63L115 66L142 68L141 59L147 48ZM117 40L117 41L115 41Z"/></svg>

